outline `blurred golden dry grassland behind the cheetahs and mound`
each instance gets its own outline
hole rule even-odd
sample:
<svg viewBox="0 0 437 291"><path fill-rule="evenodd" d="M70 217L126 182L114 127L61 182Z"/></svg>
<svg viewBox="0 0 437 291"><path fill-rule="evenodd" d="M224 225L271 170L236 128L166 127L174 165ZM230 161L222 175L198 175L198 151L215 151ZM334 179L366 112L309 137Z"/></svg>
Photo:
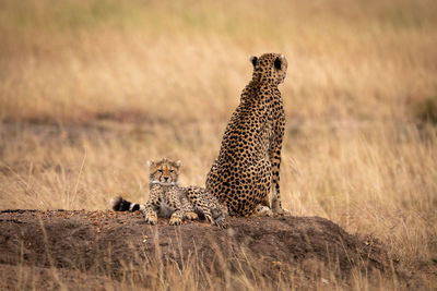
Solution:
<svg viewBox="0 0 437 291"><path fill-rule="evenodd" d="M284 207L435 287L435 0L0 0L0 209L144 203L163 157L203 185L264 52L288 60Z"/></svg>

